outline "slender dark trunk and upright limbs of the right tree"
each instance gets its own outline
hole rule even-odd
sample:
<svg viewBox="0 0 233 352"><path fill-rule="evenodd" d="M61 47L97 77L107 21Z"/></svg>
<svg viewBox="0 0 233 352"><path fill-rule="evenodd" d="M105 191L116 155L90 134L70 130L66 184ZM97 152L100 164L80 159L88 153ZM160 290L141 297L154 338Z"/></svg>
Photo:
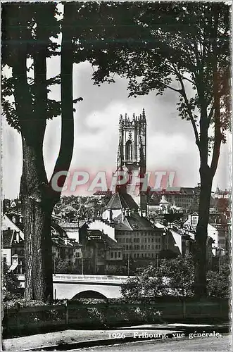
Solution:
<svg viewBox="0 0 233 352"><path fill-rule="evenodd" d="M208 128L210 120L207 113L207 104L204 99L204 87L202 76L199 82L199 99L201 101L201 118L200 118L200 177L201 192L199 199L199 222L196 227L196 251L195 251L195 294L196 296L206 296L206 245L208 239L208 222L210 211L210 197L212 191L213 177L217 170L220 156L220 146L222 136L220 131L220 87L218 77L218 54L217 54L217 37L218 37L218 11L214 12L213 26L213 106L215 122L215 138L213 146L213 156L210 166L208 165ZM218 245L218 244L217 244Z"/></svg>

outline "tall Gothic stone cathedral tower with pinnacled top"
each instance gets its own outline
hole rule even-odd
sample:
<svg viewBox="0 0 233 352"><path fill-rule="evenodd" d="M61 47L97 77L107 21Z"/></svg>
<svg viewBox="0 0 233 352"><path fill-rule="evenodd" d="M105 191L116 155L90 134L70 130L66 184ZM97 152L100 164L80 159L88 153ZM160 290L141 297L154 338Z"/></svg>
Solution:
<svg viewBox="0 0 233 352"><path fill-rule="evenodd" d="M142 183L132 185L132 172L142 179L146 175L146 115L143 109L139 116L133 115L132 120L125 114L119 120L119 146L117 170L128 173L127 193L137 201L141 210L146 210L146 195L140 191Z"/></svg>

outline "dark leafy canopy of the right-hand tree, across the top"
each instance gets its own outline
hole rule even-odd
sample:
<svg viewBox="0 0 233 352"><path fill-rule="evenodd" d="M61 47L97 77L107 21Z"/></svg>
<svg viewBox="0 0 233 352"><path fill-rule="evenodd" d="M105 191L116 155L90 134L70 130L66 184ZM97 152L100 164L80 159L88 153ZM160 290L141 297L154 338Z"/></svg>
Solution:
<svg viewBox="0 0 233 352"><path fill-rule="evenodd" d="M84 6L80 13L86 14L79 24L86 31L75 44L76 55L80 58L82 52L92 63L95 84L114 82L117 73L129 80L129 96L172 89L178 95L177 111L191 121L198 142L200 115L208 119L208 126L216 122L215 82L220 138L225 142L230 124L227 4L113 2ZM95 22L99 37L94 38ZM211 144L213 136L208 138Z"/></svg>

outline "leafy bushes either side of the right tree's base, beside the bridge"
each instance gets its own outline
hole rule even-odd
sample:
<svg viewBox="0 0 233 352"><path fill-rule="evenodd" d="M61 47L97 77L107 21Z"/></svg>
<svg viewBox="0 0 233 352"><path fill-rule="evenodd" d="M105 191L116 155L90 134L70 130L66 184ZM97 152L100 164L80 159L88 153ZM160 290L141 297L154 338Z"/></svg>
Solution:
<svg viewBox="0 0 233 352"><path fill-rule="evenodd" d="M207 272L208 296L229 297L230 267L222 263L217 271ZM135 300L156 296L193 296L194 261L191 256L160 260L160 266L149 265L122 286L122 296Z"/></svg>

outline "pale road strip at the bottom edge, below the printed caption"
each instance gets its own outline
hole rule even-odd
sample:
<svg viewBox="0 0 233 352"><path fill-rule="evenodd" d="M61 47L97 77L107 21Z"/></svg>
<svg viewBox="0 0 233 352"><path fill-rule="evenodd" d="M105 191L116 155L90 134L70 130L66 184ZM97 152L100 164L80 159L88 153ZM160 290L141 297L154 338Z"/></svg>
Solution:
<svg viewBox="0 0 233 352"><path fill-rule="evenodd" d="M222 337L203 337L195 339L168 339L153 341L136 341L126 344L115 344L112 346L98 346L79 348L73 351L87 352L157 352L157 351L232 351L231 337L229 334Z"/></svg>

